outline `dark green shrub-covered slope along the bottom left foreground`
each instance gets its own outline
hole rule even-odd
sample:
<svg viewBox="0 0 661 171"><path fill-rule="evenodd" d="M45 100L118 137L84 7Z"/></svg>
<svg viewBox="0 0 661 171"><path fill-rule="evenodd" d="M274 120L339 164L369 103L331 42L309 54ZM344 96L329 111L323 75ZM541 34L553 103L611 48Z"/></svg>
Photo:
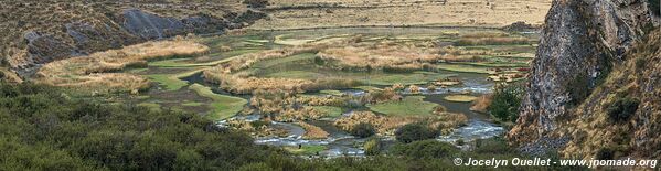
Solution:
<svg viewBox="0 0 661 171"><path fill-rule="evenodd" d="M457 167L452 159L522 158L494 139L472 152L423 140L397 143L387 156L305 159L195 114L102 101L0 82L0 170L481 170L492 167Z"/></svg>

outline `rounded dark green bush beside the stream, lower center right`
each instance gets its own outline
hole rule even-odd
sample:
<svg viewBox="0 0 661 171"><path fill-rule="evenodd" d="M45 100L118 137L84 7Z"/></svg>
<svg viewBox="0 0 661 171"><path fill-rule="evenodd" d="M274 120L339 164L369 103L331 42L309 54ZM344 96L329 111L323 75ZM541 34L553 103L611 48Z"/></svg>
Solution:
<svg viewBox="0 0 661 171"><path fill-rule="evenodd" d="M413 141L433 139L438 136L438 131L430 129L422 122L408 124L395 131L397 141L411 143Z"/></svg>

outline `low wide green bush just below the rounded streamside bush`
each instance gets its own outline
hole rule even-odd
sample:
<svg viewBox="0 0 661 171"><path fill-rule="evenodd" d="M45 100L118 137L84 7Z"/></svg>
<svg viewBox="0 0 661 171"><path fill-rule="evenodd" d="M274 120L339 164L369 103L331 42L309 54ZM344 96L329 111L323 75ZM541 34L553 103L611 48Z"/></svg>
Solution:
<svg viewBox="0 0 661 171"><path fill-rule="evenodd" d="M459 153L459 150L447 142L437 140L424 140L412 143L397 143L391 151L393 154L411 158L447 158Z"/></svg>

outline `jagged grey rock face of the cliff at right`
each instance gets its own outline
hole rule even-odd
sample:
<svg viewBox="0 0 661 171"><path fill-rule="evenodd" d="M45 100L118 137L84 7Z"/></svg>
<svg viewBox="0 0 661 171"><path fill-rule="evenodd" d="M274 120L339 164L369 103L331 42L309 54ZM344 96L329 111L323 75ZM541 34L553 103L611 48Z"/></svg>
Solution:
<svg viewBox="0 0 661 171"><path fill-rule="evenodd" d="M553 1L521 117L508 137L532 154L563 148L572 137L556 131L558 120L572 117L614 66L628 60L651 20L641 0Z"/></svg>

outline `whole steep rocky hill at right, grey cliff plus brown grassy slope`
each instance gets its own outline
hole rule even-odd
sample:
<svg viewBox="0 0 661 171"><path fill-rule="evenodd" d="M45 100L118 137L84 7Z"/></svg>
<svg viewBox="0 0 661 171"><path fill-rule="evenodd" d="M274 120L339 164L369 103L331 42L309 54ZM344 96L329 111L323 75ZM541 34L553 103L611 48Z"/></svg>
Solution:
<svg viewBox="0 0 661 171"><path fill-rule="evenodd" d="M653 87L642 86L655 81L630 79L633 75L654 76L658 70L655 53L643 54L639 47L658 46L658 42L646 41L658 36L650 34L658 19L647 7L647 1L637 0L554 1L510 139L533 154L565 149L579 152L574 156L593 157L601 148L612 147L617 150L605 152L649 157L659 150L660 143L650 141L653 136L644 133L660 126L652 121L660 113L652 107L661 105L660 97L650 89ZM626 72L623 78L616 75L630 70L636 61L649 65ZM630 81L637 82L629 86L631 92L615 88ZM610 106L623 108L612 109L615 120L620 121L608 119ZM625 116L628 113L631 116Z"/></svg>

